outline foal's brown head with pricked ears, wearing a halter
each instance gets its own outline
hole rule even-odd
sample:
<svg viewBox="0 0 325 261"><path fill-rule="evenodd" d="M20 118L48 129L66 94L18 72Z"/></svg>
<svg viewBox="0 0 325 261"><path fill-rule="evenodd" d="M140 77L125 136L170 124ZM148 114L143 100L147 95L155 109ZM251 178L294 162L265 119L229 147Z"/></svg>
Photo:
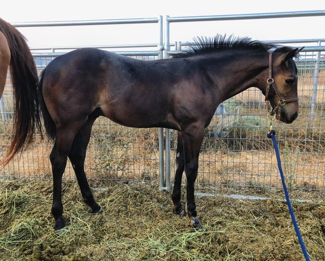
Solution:
<svg viewBox="0 0 325 261"><path fill-rule="evenodd" d="M291 123L298 116L298 70L293 60L302 49L282 47L269 55L266 102L271 115Z"/></svg>

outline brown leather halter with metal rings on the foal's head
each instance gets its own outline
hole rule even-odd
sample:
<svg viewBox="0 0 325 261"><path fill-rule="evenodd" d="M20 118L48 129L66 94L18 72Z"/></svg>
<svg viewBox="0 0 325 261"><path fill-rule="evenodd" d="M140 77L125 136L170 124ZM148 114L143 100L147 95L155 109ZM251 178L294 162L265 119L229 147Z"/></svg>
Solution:
<svg viewBox="0 0 325 261"><path fill-rule="evenodd" d="M270 52L270 54L269 54L269 78L266 82L267 82L268 86L265 91L265 102L266 102L266 105L268 106L269 114L271 116L273 116L275 113L277 113L280 106L283 106L286 103L298 101L298 98L288 99L288 100L283 99L283 96L279 92L279 89L276 87L275 82L272 78L272 52ZM269 101L269 92L270 92L271 87L273 88L276 96L279 99L278 104L274 108L272 108L271 103Z"/></svg>

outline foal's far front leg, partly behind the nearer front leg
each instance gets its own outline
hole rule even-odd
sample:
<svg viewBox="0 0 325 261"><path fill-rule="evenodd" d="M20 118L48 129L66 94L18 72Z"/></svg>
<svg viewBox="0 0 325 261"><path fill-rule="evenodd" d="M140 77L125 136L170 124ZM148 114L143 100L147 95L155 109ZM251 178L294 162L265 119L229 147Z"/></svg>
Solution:
<svg viewBox="0 0 325 261"><path fill-rule="evenodd" d="M183 141L181 137L181 132L177 132L177 148L176 148L176 173L174 180L174 188L172 194L172 200L174 205L174 213L180 216L184 216L185 212L183 206L181 204L181 183L182 183L182 175L184 172L184 149L183 149Z"/></svg>

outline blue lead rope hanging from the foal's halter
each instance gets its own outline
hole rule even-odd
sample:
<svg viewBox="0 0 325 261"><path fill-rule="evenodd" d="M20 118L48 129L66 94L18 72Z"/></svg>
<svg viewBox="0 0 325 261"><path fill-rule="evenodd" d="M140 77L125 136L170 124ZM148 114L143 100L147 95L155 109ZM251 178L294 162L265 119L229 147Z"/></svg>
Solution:
<svg viewBox="0 0 325 261"><path fill-rule="evenodd" d="M309 255L307 253L307 249L305 247L303 238L301 237L301 234L300 234L300 231L299 231L299 228L298 228L298 224L297 224L297 221L296 221L296 217L295 217L293 208L291 207L288 190L287 190L286 185L285 185L284 175L283 175L282 166L281 166L281 159L280 159L280 154L279 154L279 147L278 147L278 144L277 144L276 138L275 138L275 131L270 130L270 132L267 134L267 137L272 138L272 141L273 141L275 155L276 155L276 159L277 159L277 162L278 162L278 168L279 168L279 171L280 171L282 186L283 186L283 190L284 190L284 194L285 194L286 204L288 205L290 216L291 216L291 219L293 220L293 224L294 224L296 234L297 234L297 237L298 237L298 240L299 240L299 243L300 243L300 247L301 247L301 249L302 249L302 251L304 253L306 261L310 261Z"/></svg>

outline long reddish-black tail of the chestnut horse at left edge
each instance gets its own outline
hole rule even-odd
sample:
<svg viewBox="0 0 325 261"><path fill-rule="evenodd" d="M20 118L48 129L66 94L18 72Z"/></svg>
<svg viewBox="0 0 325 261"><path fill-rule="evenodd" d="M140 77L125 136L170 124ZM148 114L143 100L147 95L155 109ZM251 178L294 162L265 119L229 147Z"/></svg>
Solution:
<svg viewBox="0 0 325 261"><path fill-rule="evenodd" d="M36 128L42 135L42 125L37 96L37 70L26 40L14 26L2 19L0 31L6 36L10 48L10 70L15 99L13 134L3 159L5 166L25 144L31 142Z"/></svg>

